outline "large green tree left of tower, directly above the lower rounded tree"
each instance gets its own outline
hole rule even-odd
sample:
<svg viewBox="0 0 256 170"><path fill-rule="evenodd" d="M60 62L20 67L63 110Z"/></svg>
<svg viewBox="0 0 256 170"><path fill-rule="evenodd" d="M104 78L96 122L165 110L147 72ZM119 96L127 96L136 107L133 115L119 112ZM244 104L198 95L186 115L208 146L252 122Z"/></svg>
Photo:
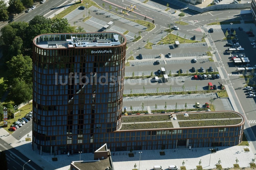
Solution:
<svg viewBox="0 0 256 170"><path fill-rule="evenodd" d="M4 81L8 86L14 86L15 80L31 83L32 59L29 56L13 56L6 64L9 74L4 77Z"/></svg>

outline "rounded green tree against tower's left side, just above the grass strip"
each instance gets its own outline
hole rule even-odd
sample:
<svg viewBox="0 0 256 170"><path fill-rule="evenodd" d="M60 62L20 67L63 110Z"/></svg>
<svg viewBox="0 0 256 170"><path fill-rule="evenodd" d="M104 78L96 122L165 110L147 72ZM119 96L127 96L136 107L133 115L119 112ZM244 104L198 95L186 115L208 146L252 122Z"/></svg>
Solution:
<svg viewBox="0 0 256 170"><path fill-rule="evenodd" d="M13 101L15 103L23 103L32 99L32 87L26 84L24 80L17 80L11 90Z"/></svg>

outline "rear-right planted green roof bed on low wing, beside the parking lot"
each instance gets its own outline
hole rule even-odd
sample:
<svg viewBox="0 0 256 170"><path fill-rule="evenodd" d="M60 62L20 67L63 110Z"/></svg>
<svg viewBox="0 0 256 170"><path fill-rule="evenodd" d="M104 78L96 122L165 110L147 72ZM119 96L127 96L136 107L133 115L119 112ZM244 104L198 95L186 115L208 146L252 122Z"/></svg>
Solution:
<svg viewBox="0 0 256 170"><path fill-rule="evenodd" d="M219 112L219 113L188 113L188 116L184 114L176 115L178 120L196 120L196 119L216 119L216 118L237 118L240 117L238 114L233 112Z"/></svg>

